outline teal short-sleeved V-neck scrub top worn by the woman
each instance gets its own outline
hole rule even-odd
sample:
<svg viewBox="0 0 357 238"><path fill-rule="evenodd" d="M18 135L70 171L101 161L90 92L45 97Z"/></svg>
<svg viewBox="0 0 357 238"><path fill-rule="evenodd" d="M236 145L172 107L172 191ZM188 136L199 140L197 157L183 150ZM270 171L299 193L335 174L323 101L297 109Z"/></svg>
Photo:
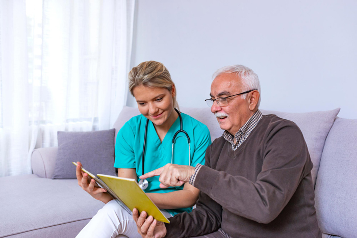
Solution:
<svg viewBox="0 0 357 238"><path fill-rule="evenodd" d="M183 129L190 137L191 143L191 166L205 164L205 153L211 144L210 131L207 126L196 119L181 113ZM142 175L142 150L144 145L146 118L139 115L127 121L119 130L115 144L115 164L116 168L136 169L137 178ZM147 126L147 138L145 148L144 172L150 172L171 163L172 138L176 131L180 129L180 117L168 130L165 138L161 142L156 133L154 124L149 121ZM189 148L184 133L176 136L173 149L173 164L189 165ZM146 193L168 193L182 190L181 187L170 187L161 189L159 187L159 176L147 179L149 186L144 191ZM179 209L166 209L172 216L192 210L192 207Z"/></svg>

